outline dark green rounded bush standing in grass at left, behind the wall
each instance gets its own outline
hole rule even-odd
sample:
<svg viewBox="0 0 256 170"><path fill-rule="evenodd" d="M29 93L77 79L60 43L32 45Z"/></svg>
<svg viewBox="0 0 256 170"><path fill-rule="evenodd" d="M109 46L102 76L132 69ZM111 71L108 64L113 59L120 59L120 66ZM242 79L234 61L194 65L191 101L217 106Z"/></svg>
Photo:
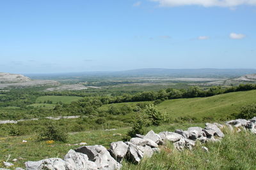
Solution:
<svg viewBox="0 0 256 170"><path fill-rule="evenodd" d="M50 122L38 135L38 141L54 140L66 142L67 137L67 133L64 131L64 129L61 129L60 126Z"/></svg>

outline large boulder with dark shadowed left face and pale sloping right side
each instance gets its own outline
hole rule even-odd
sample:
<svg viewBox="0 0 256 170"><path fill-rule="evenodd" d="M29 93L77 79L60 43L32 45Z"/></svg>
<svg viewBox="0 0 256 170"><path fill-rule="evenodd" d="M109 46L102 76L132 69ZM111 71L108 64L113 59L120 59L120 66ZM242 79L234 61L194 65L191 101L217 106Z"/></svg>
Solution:
<svg viewBox="0 0 256 170"><path fill-rule="evenodd" d="M111 157L110 153L104 146L81 146L75 151L86 154L89 160L95 162L98 169L115 170L122 167L121 164Z"/></svg>

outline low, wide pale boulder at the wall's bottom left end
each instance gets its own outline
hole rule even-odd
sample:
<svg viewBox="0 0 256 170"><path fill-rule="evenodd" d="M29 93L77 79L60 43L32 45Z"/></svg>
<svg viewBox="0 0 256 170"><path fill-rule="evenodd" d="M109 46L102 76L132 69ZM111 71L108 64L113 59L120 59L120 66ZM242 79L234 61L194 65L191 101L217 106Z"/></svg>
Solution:
<svg viewBox="0 0 256 170"><path fill-rule="evenodd" d="M75 170L68 162L60 158L50 158L39 161L25 162L26 170Z"/></svg>

